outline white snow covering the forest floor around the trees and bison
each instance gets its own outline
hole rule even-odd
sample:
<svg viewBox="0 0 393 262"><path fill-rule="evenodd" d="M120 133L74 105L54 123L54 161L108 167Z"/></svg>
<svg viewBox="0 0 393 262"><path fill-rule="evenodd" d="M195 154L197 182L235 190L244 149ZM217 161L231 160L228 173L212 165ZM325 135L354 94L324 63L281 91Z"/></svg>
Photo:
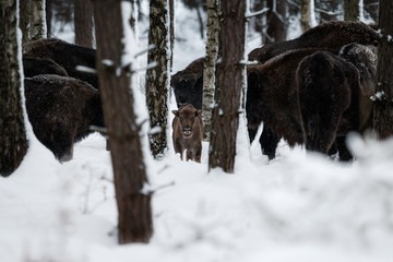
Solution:
<svg viewBox="0 0 393 262"><path fill-rule="evenodd" d="M196 21L196 13L181 11L178 19ZM174 72L204 52L196 26L177 29L189 40L177 43ZM206 143L202 164L181 162L169 145L166 158L150 168L158 188L151 242L124 246L117 243L104 138L92 134L76 144L74 159L64 164L29 138L21 167L0 177L0 261L393 260L392 140L353 135L357 160L341 164L285 143L267 163L243 128L238 138L233 175L207 174Z"/></svg>

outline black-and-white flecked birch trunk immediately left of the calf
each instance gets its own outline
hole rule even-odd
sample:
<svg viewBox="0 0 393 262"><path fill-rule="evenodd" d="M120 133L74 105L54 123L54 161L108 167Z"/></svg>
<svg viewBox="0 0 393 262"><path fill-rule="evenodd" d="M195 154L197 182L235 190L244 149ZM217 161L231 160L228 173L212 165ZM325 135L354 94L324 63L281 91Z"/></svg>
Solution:
<svg viewBox="0 0 393 262"><path fill-rule="evenodd" d="M150 3L148 45L155 48L148 51L147 62L158 66L147 70L146 100L153 133L150 135L151 150L156 159L164 157L167 148L167 115L169 90L169 28L167 0L152 0Z"/></svg>

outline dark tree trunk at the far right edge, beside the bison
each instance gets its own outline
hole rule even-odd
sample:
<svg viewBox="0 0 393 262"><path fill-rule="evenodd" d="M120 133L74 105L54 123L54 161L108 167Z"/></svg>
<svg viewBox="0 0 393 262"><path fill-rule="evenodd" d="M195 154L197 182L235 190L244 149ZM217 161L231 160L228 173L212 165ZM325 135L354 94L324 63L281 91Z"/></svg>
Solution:
<svg viewBox="0 0 393 262"><path fill-rule="evenodd" d="M378 98L374 103L373 128L380 139L386 139L393 134L393 2L381 0L379 10L379 28L383 37L378 46Z"/></svg>

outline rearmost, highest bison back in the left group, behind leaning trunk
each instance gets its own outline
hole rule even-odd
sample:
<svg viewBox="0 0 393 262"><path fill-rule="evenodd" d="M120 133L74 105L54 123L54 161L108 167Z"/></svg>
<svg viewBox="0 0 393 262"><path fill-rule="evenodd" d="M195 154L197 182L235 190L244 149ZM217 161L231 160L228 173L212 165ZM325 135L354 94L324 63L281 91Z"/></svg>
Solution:
<svg viewBox="0 0 393 262"><path fill-rule="evenodd" d="M98 88L95 73L82 72L78 66L96 68L96 50L56 38L39 39L23 46L24 57L49 58L60 64L71 78L83 80Z"/></svg>

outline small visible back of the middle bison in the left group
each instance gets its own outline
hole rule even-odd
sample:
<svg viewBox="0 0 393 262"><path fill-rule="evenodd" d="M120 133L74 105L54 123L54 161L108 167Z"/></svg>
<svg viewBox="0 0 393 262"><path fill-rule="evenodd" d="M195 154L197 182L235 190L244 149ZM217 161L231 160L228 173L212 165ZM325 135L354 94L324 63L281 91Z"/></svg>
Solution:
<svg viewBox="0 0 393 262"><path fill-rule="evenodd" d="M23 57L23 72L25 78L38 74L68 76L67 71L49 58Z"/></svg>

